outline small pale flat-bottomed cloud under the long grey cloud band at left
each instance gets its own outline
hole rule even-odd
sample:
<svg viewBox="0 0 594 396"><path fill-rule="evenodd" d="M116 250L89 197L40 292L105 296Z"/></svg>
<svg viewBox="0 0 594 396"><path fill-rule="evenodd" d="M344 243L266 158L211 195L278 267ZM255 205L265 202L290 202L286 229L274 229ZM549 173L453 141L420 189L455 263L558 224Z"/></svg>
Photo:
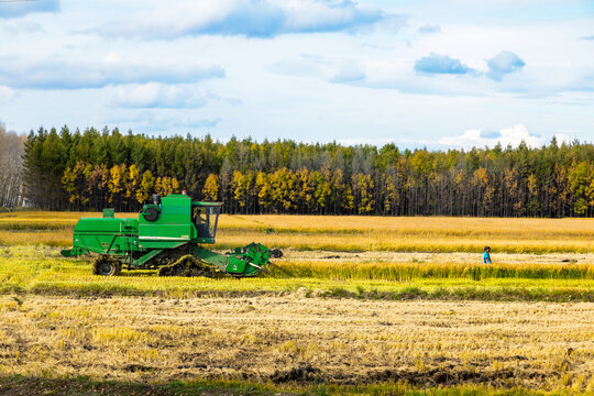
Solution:
<svg viewBox="0 0 594 396"><path fill-rule="evenodd" d="M130 108L186 108L202 107L206 98L191 87L166 86L157 82L120 86L111 106Z"/></svg>

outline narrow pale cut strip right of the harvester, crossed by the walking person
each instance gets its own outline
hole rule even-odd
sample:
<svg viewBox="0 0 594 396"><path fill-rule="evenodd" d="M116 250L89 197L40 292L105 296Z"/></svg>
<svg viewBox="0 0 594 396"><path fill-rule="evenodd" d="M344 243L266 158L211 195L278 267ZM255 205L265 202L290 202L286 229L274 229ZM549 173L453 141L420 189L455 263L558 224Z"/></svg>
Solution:
<svg viewBox="0 0 594 396"><path fill-rule="evenodd" d="M492 252L493 263L502 264L593 264L594 253L548 253L517 254ZM391 263L482 263L482 253L409 253L409 252L332 252L332 251L299 251L283 250L283 260L289 261L344 261L344 262L391 262Z"/></svg>

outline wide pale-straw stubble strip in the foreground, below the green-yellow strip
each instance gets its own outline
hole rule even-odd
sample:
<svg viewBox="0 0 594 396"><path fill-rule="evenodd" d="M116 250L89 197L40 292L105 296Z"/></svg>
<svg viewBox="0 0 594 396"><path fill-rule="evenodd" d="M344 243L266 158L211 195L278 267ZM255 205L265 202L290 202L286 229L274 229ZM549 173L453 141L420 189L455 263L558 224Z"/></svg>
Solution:
<svg viewBox="0 0 594 396"><path fill-rule="evenodd" d="M594 391L594 304L0 297L0 374Z"/></svg>

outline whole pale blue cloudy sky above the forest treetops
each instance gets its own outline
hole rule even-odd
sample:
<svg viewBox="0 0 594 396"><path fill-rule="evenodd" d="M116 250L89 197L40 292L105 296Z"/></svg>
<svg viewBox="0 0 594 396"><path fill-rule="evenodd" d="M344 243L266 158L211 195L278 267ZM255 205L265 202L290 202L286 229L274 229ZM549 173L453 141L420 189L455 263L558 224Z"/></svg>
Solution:
<svg viewBox="0 0 594 396"><path fill-rule="evenodd" d="M0 122L430 150L594 141L594 1L0 0Z"/></svg>

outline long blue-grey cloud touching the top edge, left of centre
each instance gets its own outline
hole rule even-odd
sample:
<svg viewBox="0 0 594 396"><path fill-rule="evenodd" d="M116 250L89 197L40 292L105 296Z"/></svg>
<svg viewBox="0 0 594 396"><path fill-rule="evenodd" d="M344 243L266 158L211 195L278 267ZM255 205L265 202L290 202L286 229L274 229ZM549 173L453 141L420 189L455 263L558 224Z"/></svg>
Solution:
<svg viewBox="0 0 594 396"><path fill-rule="evenodd" d="M193 0L163 4L95 31L106 36L147 40L204 34L273 37L348 31L386 16L378 8L351 0Z"/></svg>

